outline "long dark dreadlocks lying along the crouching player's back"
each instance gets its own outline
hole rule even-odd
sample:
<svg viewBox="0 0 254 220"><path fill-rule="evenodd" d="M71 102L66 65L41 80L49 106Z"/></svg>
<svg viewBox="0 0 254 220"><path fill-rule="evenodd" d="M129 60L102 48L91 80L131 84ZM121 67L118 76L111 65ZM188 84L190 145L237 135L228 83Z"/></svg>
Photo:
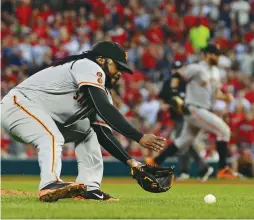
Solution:
<svg viewBox="0 0 254 220"><path fill-rule="evenodd" d="M51 66L56 67L56 66L59 66L59 65L63 65L65 63L72 62L72 61L73 61L73 64L74 64L77 60L81 60L81 59L84 59L84 58L87 58L87 59L92 60L93 62L99 64L96 60L97 57L99 57L99 56L96 55L93 51L88 50L88 51L83 52L82 54L68 56L68 57L65 57L62 60L58 60L58 61L54 62Z"/></svg>

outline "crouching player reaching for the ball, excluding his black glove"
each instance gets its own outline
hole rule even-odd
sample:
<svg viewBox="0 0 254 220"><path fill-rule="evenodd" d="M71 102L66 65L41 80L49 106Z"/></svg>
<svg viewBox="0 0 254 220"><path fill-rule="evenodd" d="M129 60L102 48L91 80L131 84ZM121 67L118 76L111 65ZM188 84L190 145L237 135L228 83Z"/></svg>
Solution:
<svg viewBox="0 0 254 220"><path fill-rule="evenodd" d="M110 142L106 149L131 167L139 163L123 151L111 128L145 148L163 148L164 138L140 133L111 104L108 89L122 72L132 74L123 48L114 42L101 42L90 51L35 73L3 98L3 128L14 139L38 149L41 201L75 196L118 200L100 190L103 158L99 142L104 146ZM89 118L94 119L92 126ZM68 142L75 142L75 183L60 179L62 146Z"/></svg>

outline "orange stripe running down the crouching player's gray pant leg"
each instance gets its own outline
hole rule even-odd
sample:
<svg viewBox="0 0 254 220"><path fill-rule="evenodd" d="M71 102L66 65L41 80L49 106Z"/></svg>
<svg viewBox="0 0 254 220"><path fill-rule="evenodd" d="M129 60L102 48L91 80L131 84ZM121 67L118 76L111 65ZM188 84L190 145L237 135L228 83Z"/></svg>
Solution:
<svg viewBox="0 0 254 220"><path fill-rule="evenodd" d="M40 119L38 119L36 116L34 116L32 113L30 113L28 110L26 110L22 105L20 105L17 102L17 97L13 97L14 104L17 105L23 112L28 114L30 117L32 117L34 120L36 120L51 136L52 138L52 165L51 165L51 172L54 173L54 166L55 166L55 136L51 133L51 131L47 128L46 125L44 125ZM55 175L55 174L54 174ZM58 177L56 177L58 179Z"/></svg>

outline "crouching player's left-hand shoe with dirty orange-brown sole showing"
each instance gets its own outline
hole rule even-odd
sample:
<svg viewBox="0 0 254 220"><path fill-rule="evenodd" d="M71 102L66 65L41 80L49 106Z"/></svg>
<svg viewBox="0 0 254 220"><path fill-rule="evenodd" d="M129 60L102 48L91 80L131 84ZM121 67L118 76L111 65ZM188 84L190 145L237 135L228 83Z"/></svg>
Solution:
<svg viewBox="0 0 254 220"><path fill-rule="evenodd" d="M56 181L42 188L39 200L42 202L56 202L58 199L73 198L86 191L82 183Z"/></svg>

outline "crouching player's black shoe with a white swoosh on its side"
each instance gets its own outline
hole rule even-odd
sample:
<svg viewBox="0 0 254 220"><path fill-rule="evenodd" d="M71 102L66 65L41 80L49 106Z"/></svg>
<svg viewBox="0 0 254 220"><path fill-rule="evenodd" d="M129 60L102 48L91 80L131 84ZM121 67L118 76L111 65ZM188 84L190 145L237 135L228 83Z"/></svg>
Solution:
<svg viewBox="0 0 254 220"><path fill-rule="evenodd" d="M113 196L99 190L84 191L80 196L76 196L74 200L98 200L98 201L110 201L110 202L119 202L120 200L114 198Z"/></svg>

